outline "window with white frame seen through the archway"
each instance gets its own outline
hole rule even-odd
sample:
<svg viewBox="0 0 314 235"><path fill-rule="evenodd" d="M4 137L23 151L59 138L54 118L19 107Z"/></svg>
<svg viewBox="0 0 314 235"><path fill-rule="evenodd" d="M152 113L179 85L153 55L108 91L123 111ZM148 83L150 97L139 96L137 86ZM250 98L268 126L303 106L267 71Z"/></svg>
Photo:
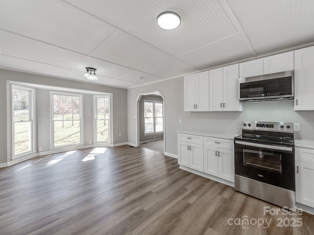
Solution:
<svg viewBox="0 0 314 235"><path fill-rule="evenodd" d="M162 103L156 101L144 101L145 134L163 132Z"/></svg>

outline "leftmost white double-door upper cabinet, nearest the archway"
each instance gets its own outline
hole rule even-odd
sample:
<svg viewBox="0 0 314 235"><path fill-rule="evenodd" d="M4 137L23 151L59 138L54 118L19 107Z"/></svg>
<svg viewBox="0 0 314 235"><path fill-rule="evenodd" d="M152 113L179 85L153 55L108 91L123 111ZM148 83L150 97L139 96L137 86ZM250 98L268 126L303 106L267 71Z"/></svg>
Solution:
<svg viewBox="0 0 314 235"><path fill-rule="evenodd" d="M184 76L184 111L209 111L209 71Z"/></svg>

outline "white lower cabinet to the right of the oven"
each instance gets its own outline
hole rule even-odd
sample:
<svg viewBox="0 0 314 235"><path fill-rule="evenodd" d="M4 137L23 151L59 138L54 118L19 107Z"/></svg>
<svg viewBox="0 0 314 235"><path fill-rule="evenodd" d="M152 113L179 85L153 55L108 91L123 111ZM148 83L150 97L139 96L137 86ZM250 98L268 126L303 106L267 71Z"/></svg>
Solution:
<svg viewBox="0 0 314 235"><path fill-rule="evenodd" d="M314 149L295 148L295 199L314 208Z"/></svg>

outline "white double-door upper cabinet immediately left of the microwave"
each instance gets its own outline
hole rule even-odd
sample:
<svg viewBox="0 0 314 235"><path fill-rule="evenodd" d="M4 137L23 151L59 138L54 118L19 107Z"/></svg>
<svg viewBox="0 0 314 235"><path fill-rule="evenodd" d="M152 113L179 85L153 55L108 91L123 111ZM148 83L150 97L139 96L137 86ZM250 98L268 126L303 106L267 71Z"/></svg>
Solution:
<svg viewBox="0 0 314 235"><path fill-rule="evenodd" d="M238 64L210 70L209 111L242 111L238 83Z"/></svg>

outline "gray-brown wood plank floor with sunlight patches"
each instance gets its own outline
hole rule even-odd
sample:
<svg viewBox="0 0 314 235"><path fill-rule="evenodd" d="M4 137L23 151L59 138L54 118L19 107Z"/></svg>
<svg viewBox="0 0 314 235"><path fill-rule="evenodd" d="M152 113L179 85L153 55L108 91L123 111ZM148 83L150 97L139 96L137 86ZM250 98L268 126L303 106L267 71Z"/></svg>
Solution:
<svg viewBox="0 0 314 235"><path fill-rule="evenodd" d="M279 209L141 147L88 148L0 168L0 235L314 233L314 215L263 215L263 206ZM243 216L272 221L268 228L228 225ZM279 217L303 225L276 227Z"/></svg>

